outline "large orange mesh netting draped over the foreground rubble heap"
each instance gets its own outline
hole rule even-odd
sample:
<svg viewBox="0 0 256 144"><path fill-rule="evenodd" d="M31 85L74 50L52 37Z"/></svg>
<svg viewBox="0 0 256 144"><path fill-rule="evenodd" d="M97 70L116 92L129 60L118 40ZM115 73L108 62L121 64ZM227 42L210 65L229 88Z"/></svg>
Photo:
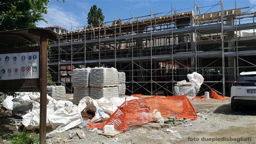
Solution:
<svg viewBox="0 0 256 144"><path fill-rule="evenodd" d="M105 125L114 125L115 129L125 131L129 126L154 121L154 109L158 109L164 118L175 116L176 119L197 119L197 113L185 95L164 98L155 96L125 101L109 119L99 123L90 121L86 127L103 129Z"/></svg>

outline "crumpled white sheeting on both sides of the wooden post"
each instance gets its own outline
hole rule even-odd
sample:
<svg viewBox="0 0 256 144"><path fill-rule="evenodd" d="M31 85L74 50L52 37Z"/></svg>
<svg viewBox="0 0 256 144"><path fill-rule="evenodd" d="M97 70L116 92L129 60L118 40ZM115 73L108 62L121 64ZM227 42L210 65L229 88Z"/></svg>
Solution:
<svg viewBox="0 0 256 144"><path fill-rule="evenodd" d="M33 109L23 115L22 124L27 129L39 128L40 109ZM46 126L53 129L51 133L64 132L70 128L79 126L83 119L78 107L70 101L60 100L56 104L47 105Z"/></svg>

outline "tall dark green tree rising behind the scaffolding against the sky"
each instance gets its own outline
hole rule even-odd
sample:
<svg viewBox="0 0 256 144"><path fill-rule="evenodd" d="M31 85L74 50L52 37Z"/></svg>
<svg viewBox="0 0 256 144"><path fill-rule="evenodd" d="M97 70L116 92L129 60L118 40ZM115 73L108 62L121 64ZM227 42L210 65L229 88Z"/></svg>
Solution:
<svg viewBox="0 0 256 144"><path fill-rule="evenodd" d="M99 26L99 20L101 22L104 21L104 15L102 12L102 9L97 8L97 5L92 5L90 11L88 12L87 16L87 23L89 24L88 28L91 28L91 25L93 27L98 27ZM100 24L102 26L103 23Z"/></svg>

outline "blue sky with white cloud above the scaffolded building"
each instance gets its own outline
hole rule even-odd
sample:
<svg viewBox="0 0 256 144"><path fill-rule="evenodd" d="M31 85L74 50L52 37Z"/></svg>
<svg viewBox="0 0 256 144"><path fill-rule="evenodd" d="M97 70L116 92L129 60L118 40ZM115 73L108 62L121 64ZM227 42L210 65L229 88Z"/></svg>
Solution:
<svg viewBox="0 0 256 144"><path fill-rule="evenodd" d="M214 5L219 0L196 0L201 6ZM59 25L66 29L70 29L71 25L82 26L87 22L87 13L91 6L95 4L98 8L103 10L105 22L109 22L116 18L130 18L132 13L134 16L149 15L152 12L168 12L173 8L185 11L193 10L194 0L66 0L65 3L59 3L56 0L51 0L48 5L48 14L44 18L48 23L43 21L38 22L38 27L46 27L50 25ZM237 0L237 6L244 7L250 6L251 8L256 5L256 0ZM187 9L188 8L188 9ZM200 13L209 10L208 8L201 8ZM234 0L224 0L224 9L233 9ZM211 11L220 10L220 5L215 6ZM245 9L246 11L248 9ZM253 8L252 10L256 10ZM179 11L182 12L182 11Z"/></svg>

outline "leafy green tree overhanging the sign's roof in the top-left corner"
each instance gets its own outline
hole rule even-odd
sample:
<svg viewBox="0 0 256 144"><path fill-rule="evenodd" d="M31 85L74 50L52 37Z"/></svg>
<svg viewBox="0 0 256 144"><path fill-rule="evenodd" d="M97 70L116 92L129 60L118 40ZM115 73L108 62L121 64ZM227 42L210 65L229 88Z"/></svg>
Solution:
<svg viewBox="0 0 256 144"><path fill-rule="evenodd" d="M47 13L46 6L49 2L50 0L1 0L0 31L32 28L39 20L47 22L43 15Z"/></svg>

